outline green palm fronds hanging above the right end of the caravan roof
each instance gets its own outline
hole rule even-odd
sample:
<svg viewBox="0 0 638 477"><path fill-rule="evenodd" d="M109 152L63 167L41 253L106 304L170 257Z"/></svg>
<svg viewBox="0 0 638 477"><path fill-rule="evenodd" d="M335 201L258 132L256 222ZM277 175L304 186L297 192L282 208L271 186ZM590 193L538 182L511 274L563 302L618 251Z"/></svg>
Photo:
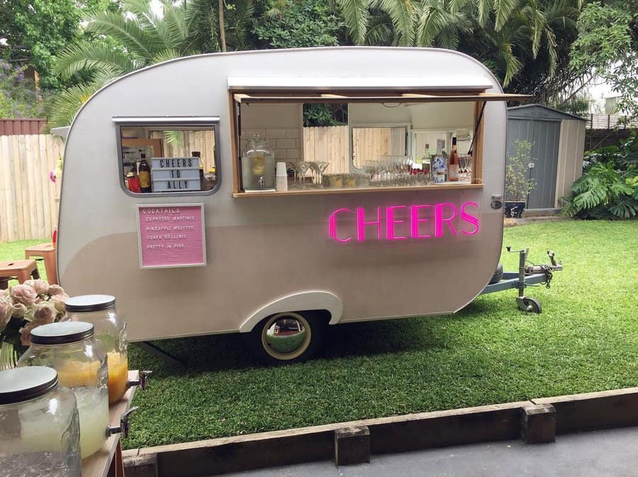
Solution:
<svg viewBox="0 0 638 477"><path fill-rule="evenodd" d="M523 59L556 71L555 30L575 29L583 0L337 0L356 45L487 47L506 86ZM481 54L481 50L476 49ZM484 51L484 50L483 50Z"/></svg>

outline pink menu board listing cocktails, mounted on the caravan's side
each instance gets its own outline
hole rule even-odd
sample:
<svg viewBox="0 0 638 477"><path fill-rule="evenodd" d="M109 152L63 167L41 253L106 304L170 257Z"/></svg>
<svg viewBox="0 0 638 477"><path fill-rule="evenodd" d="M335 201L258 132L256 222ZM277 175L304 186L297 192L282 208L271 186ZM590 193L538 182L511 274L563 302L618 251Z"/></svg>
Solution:
<svg viewBox="0 0 638 477"><path fill-rule="evenodd" d="M141 268L206 265L203 204L138 205Z"/></svg>

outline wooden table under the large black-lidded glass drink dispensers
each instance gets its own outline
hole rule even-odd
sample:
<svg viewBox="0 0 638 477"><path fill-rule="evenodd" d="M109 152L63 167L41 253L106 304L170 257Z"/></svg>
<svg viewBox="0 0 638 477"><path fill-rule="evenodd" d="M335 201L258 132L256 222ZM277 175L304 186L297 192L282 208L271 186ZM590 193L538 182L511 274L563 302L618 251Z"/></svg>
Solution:
<svg viewBox="0 0 638 477"><path fill-rule="evenodd" d="M128 380L139 379L139 371L129 371ZM120 416L130 408L133 394L137 386L126 391L124 397L108 408L110 425L120 425ZM135 414L133 414L135 416ZM135 418L133 417L133 420ZM135 432L135 424L133 424ZM115 434L106 439L102 448L90 457L82 461L82 477L121 477L124 476L124 464L122 461L122 447L120 435Z"/></svg>

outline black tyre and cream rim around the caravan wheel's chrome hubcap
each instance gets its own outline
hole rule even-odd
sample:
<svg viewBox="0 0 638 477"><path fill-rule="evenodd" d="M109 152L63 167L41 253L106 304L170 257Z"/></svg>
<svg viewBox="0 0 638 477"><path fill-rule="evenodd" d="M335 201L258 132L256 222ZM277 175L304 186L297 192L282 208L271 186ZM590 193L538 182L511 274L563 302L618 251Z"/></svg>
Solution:
<svg viewBox="0 0 638 477"><path fill-rule="evenodd" d="M272 342L276 336L267 334L267 331L274 326L275 321L286 320L301 323L303 331L294 336L284 337L286 340L292 340L294 349L290 343L278 343L284 349L275 350L269 341ZM315 356L323 347L328 320L329 318L320 311L288 311L267 316L250 332L248 336L250 350L257 360L265 364L304 362ZM285 350L286 345L291 347L291 351Z"/></svg>

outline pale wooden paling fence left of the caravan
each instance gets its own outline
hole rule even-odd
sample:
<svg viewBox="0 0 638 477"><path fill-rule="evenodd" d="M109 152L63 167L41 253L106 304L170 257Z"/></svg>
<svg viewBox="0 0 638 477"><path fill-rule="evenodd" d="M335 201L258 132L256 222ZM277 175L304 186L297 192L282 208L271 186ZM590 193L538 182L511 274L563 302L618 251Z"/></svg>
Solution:
<svg viewBox="0 0 638 477"><path fill-rule="evenodd" d="M51 134L0 136L0 241L51 236L60 179L52 183L49 173L63 149Z"/></svg>

